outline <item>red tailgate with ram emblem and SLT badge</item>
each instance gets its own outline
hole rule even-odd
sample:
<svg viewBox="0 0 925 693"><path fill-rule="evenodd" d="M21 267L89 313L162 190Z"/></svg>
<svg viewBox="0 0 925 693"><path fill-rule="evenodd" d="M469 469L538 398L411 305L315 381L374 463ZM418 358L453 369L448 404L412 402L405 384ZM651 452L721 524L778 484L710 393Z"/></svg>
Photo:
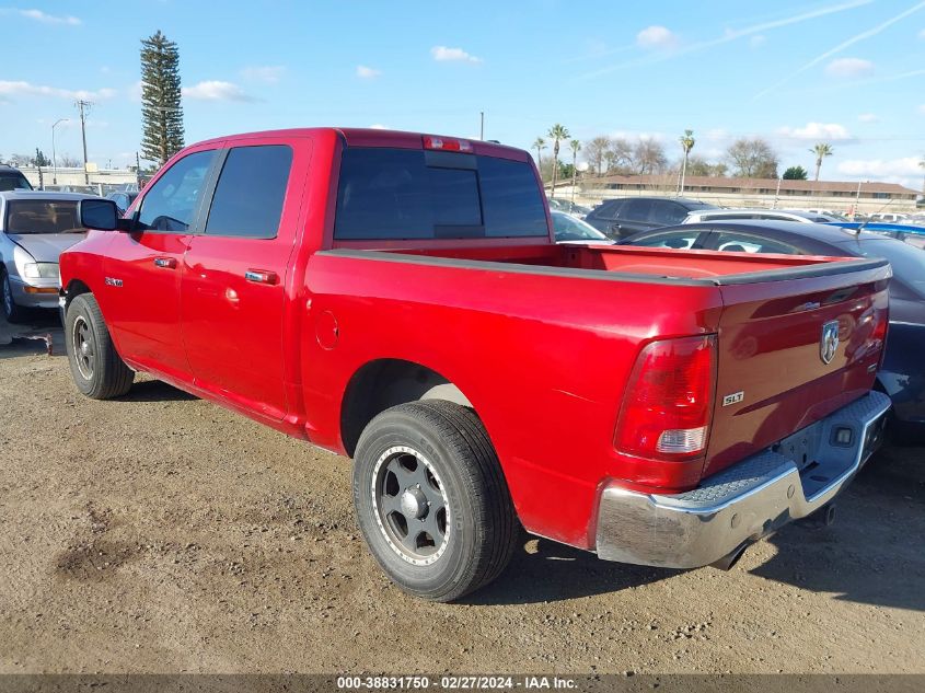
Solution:
<svg viewBox="0 0 925 693"><path fill-rule="evenodd" d="M829 262L718 284L717 390L704 475L828 416L874 385L886 261Z"/></svg>

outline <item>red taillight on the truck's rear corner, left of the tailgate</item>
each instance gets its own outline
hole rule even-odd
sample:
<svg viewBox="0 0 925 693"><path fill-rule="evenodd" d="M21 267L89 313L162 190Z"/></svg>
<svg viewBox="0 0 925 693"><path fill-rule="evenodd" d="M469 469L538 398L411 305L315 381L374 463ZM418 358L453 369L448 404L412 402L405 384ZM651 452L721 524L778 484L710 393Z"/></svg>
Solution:
<svg viewBox="0 0 925 693"><path fill-rule="evenodd" d="M716 390L716 337L661 339L633 367L614 446L640 458L686 461L706 451Z"/></svg>

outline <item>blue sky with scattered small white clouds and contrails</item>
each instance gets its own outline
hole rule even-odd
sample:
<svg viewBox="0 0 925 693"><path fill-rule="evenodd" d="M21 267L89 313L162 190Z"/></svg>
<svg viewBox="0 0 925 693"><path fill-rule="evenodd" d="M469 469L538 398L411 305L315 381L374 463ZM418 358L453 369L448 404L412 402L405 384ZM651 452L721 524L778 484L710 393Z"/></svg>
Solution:
<svg viewBox="0 0 925 693"><path fill-rule="evenodd" d="M221 7L218 11L215 8ZM922 187L925 2L26 2L0 0L0 157L80 154L73 100L95 105L90 159L134 161L139 39L180 45L187 142L290 126L386 126L529 147L691 128L718 158L767 138L784 166Z"/></svg>

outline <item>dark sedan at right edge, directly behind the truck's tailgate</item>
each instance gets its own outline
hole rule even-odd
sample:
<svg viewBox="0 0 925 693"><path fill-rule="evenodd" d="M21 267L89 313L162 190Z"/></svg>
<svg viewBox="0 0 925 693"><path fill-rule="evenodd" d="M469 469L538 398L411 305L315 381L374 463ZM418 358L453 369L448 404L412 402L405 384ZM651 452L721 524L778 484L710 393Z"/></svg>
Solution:
<svg viewBox="0 0 925 693"><path fill-rule="evenodd" d="M890 331L877 383L893 401L894 438L925 442L925 251L879 233L796 221L681 224L637 233L621 245L887 258L893 268Z"/></svg>

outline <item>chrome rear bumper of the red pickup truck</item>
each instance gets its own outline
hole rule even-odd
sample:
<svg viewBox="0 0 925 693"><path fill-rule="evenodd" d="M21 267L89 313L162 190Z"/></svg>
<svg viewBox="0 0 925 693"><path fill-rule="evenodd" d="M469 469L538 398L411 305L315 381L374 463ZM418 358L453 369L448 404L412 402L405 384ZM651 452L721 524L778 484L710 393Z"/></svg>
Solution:
<svg viewBox="0 0 925 693"><path fill-rule="evenodd" d="M598 556L697 568L733 554L834 498L879 447L889 408L887 395L870 392L683 494L606 486L598 515ZM852 431L849 443L845 429Z"/></svg>

